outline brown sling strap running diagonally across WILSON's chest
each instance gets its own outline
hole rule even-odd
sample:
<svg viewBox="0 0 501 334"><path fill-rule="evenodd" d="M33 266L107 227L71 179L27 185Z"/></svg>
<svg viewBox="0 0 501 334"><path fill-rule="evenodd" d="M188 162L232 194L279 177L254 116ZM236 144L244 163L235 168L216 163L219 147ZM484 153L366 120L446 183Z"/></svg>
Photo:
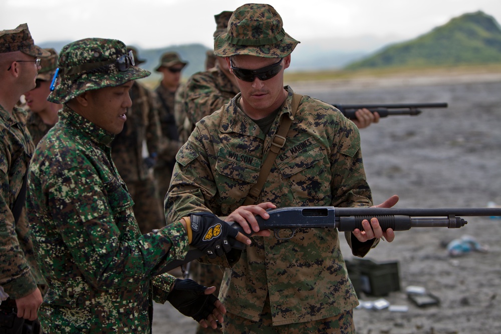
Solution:
<svg viewBox="0 0 501 334"><path fill-rule="evenodd" d="M285 145L287 139L286 138L287 133L291 128L294 115L298 110L299 103L301 102L302 98L303 98L302 95L299 94L293 95L291 103L291 116L289 117L287 113L284 113L282 115L282 118L280 119L279 129L273 136L272 145L268 152L268 156L265 159L265 162L261 166L261 171L259 173L258 180L254 184L254 186L250 188L249 193L247 194L247 197L243 202L243 205L252 205L255 204L256 201L258 200L258 196L261 193L261 189L263 189L263 186L265 185L266 179L270 174L270 170L272 169L273 163L275 162L275 159L277 158L277 155L279 154L280 150Z"/></svg>

